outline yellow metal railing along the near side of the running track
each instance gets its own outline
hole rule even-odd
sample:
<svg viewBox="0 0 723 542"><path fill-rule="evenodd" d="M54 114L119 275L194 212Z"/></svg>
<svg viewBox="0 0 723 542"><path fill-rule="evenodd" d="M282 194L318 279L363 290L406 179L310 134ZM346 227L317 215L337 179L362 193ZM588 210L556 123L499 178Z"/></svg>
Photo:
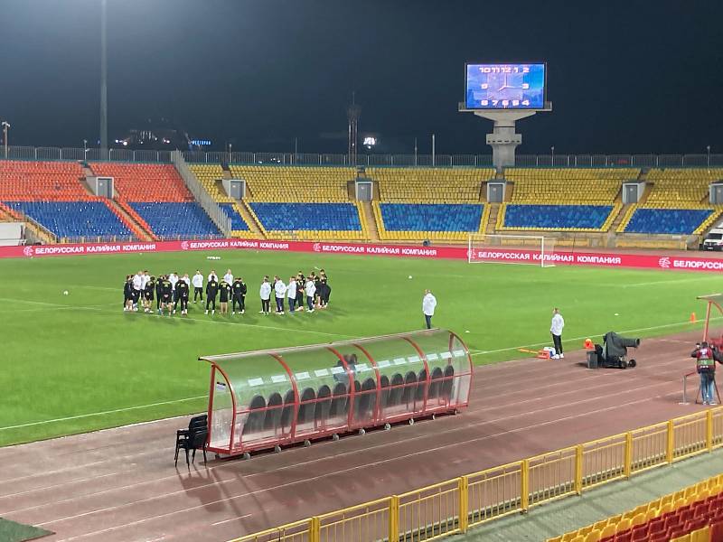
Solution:
<svg viewBox="0 0 723 542"><path fill-rule="evenodd" d="M723 407L718 406L266 529L232 542L433 540L721 446ZM327 531L331 528L343 528L341 535L334 530L330 538Z"/></svg>

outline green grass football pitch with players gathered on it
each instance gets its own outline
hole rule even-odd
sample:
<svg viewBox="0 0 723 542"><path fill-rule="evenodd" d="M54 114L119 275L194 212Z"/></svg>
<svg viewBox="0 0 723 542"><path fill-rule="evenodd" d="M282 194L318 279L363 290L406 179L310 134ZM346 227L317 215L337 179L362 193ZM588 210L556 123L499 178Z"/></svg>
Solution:
<svg viewBox="0 0 723 542"><path fill-rule="evenodd" d="M210 254L221 261L209 261ZM312 344L422 327L424 288L438 327L458 332L475 363L519 358L547 345L551 308L565 316L568 349L614 330L646 337L690 329L715 274L422 261L271 252L173 253L8 259L0 263L3 369L0 445L198 412L206 405L202 354ZM258 314L263 275L324 267L330 308ZM249 285L244 315L124 313L125 276L230 267ZM412 276L411 279L408 276ZM69 295L63 295L68 290ZM643 344L644 347L644 344ZM554 363L551 361L550 363Z"/></svg>

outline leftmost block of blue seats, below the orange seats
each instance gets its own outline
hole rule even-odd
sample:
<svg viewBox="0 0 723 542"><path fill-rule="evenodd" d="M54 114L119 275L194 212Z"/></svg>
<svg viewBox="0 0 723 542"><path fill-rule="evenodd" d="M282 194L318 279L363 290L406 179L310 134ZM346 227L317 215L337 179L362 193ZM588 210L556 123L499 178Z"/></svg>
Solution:
<svg viewBox="0 0 723 542"><path fill-rule="evenodd" d="M131 237L102 201L5 201L61 238Z"/></svg>

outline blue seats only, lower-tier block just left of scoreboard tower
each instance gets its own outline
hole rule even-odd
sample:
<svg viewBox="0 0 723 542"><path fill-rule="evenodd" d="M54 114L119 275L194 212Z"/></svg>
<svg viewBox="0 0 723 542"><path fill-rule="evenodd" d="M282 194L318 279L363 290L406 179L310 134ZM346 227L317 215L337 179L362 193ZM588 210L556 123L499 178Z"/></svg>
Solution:
<svg viewBox="0 0 723 542"><path fill-rule="evenodd" d="M484 205L380 203L387 231L477 231Z"/></svg>

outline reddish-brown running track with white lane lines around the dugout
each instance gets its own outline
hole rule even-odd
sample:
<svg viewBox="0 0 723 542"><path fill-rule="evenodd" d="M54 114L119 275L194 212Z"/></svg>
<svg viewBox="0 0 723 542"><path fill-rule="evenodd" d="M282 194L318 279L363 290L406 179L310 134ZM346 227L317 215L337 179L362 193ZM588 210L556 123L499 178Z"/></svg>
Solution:
<svg viewBox="0 0 723 542"><path fill-rule="evenodd" d="M173 463L187 418L3 448L0 517L56 533L43 540L228 540L694 412L678 401L699 337L643 341L637 369L588 370L582 351L478 368L459 416L250 461L197 454L190 472Z"/></svg>

